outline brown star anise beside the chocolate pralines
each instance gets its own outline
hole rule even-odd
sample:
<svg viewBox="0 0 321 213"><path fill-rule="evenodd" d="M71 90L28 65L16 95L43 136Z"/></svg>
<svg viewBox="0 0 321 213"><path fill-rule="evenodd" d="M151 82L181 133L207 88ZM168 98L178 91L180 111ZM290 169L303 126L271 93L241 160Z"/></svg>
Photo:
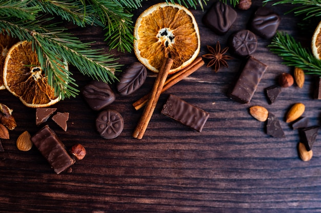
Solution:
<svg viewBox="0 0 321 213"><path fill-rule="evenodd" d="M214 66L215 73L217 73L221 64L225 67L229 67L226 60L232 59L232 57L224 55L228 51L228 47L221 51L219 41L217 41L216 49L212 48L210 45L207 45L207 49L210 53L203 55L204 58L211 59L207 64L207 67Z"/></svg>

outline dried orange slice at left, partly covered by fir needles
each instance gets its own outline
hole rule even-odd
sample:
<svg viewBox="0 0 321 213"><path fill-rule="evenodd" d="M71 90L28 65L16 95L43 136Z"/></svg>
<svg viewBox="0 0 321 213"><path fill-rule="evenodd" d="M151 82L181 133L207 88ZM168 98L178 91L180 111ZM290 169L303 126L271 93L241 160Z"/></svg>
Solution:
<svg viewBox="0 0 321 213"><path fill-rule="evenodd" d="M48 107L59 101L48 85L31 42L18 42L9 50L3 80L6 88L28 107Z"/></svg>

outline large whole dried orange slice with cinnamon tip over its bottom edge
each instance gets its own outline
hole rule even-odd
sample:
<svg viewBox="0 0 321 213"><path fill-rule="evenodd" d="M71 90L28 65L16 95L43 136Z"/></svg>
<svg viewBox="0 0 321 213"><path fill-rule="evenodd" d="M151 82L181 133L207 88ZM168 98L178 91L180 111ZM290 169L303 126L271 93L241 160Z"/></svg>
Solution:
<svg viewBox="0 0 321 213"><path fill-rule="evenodd" d="M193 14L177 4L159 3L145 10L136 20L134 37L137 59L155 73L164 57L174 60L173 74L193 62L200 49Z"/></svg>

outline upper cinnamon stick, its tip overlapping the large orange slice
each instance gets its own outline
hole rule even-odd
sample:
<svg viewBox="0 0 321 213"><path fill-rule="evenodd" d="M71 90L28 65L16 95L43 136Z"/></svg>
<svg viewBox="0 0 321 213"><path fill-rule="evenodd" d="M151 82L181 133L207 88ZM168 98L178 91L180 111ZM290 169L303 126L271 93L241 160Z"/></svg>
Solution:
<svg viewBox="0 0 321 213"><path fill-rule="evenodd" d="M162 66L160 67L159 73L153 85L153 89L148 98L146 107L143 111L141 119L139 120L134 132L133 137L142 139L143 135L147 129L148 123L153 115L157 101L159 99L160 93L164 87L166 78L168 76L169 70L173 64L173 59L165 58L163 60Z"/></svg>

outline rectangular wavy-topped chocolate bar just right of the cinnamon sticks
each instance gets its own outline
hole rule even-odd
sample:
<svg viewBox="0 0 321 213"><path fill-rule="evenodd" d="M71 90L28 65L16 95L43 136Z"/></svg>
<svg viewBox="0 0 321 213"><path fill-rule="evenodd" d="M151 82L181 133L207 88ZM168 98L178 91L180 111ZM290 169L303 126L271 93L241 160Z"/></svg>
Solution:
<svg viewBox="0 0 321 213"><path fill-rule="evenodd" d="M203 109L195 107L173 94L170 94L161 113L198 132L202 131L210 116L210 114Z"/></svg>

